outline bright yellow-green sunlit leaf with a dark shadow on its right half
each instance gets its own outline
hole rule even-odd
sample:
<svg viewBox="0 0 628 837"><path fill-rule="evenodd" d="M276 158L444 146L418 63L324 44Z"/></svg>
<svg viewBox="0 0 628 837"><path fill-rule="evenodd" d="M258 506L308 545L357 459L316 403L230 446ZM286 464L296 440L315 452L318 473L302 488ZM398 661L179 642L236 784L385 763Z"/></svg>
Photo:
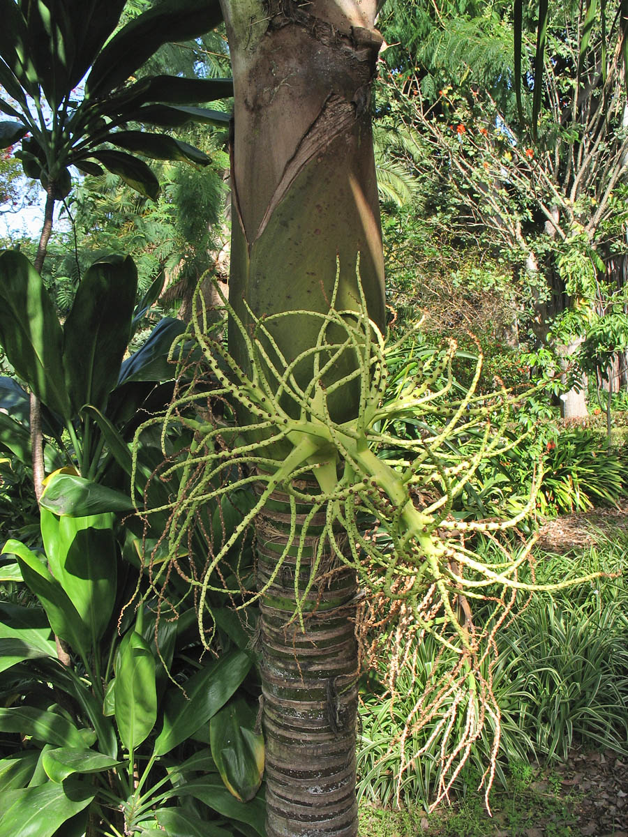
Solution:
<svg viewBox="0 0 628 837"><path fill-rule="evenodd" d="M55 480L60 476L69 475ZM58 517L42 502L40 526L50 571L74 603L95 649L116 602L113 515Z"/></svg>

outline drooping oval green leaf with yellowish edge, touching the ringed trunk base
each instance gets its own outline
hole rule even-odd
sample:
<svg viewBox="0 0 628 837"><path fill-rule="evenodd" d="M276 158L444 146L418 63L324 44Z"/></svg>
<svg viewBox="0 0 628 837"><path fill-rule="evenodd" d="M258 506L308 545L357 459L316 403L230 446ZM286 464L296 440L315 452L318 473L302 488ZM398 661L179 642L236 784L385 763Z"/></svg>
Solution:
<svg viewBox="0 0 628 837"><path fill-rule="evenodd" d="M264 737L255 733L255 711L242 698L229 701L209 721L209 742L225 787L249 802L264 774Z"/></svg>

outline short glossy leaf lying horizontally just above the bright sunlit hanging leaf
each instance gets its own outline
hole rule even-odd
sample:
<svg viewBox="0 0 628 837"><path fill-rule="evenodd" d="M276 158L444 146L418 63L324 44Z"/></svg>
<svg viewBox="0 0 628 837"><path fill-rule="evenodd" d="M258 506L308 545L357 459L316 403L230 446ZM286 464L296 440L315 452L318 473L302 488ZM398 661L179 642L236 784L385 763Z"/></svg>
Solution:
<svg viewBox="0 0 628 837"><path fill-rule="evenodd" d="M57 474L44 489L41 506L56 515L85 517L106 512L132 511L131 498L106 485L74 474Z"/></svg>

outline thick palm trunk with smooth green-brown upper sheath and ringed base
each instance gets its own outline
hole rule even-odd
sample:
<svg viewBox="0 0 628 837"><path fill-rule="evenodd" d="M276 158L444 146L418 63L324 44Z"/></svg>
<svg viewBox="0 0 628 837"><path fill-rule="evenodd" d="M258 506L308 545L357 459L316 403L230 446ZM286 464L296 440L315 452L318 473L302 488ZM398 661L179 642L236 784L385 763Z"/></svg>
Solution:
<svg viewBox="0 0 628 837"><path fill-rule="evenodd" d="M258 317L327 312L336 283L337 309L358 310L361 285L369 316L383 330L370 123L381 44L377 2L223 0L223 10L235 91L230 303L246 326L247 306ZM315 345L317 331L314 318L285 317L272 326L286 362ZM229 351L248 371L235 328ZM350 359L343 362L346 373ZM308 376L311 367L296 368L299 383ZM345 391L332 411L347 420L358 405ZM289 516L278 499L257 523L260 584L288 537ZM309 576L306 563L301 583ZM344 568L319 568L302 631L298 620L291 622L294 573L286 563L261 602L268 834L354 837L355 577Z"/></svg>

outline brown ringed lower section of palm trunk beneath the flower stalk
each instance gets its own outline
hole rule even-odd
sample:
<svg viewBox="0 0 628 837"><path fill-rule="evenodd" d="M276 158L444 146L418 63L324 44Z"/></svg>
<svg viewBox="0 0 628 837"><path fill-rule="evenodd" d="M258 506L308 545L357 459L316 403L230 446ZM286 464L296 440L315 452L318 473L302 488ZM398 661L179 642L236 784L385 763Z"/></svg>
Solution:
<svg viewBox="0 0 628 837"><path fill-rule="evenodd" d="M306 506L298 512L297 531ZM322 529L324 516L322 511L312 521L305 539L301 591L310 578L317 524ZM274 572L289 532L290 507L275 492L257 523L259 585ZM303 603L303 632L293 619L298 546L297 537L293 554L261 601L266 831L268 837L355 837L356 578L351 569L323 559Z"/></svg>

